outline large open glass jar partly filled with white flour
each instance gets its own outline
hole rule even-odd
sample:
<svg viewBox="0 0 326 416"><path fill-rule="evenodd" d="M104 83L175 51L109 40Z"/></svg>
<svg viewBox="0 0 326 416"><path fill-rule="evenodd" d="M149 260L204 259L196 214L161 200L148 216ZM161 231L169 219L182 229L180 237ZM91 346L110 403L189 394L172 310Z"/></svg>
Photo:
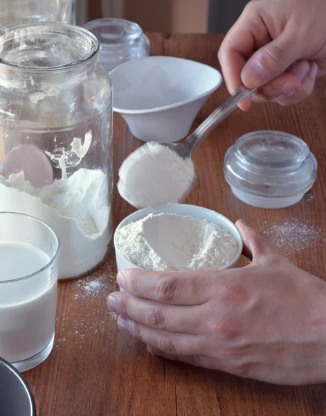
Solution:
<svg viewBox="0 0 326 416"><path fill-rule="evenodd" d="M0 31L0 211L53 226L59 279L96 268L112 235L112 88L98 53L76 26Z"/></svg>

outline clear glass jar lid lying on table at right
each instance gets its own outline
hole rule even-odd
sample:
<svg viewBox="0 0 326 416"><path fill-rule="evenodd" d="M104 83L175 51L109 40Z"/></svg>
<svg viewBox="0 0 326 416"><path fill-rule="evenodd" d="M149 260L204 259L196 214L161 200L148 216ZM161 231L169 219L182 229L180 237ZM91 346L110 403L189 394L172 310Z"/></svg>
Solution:
<svg viewBox="0 0 326 416"><path fill-rule="evenodd" d="M316 158L305 141L283 132L248 133L228 149L224 158L228 184L259 196L307 192L316 173Z"/></svg>

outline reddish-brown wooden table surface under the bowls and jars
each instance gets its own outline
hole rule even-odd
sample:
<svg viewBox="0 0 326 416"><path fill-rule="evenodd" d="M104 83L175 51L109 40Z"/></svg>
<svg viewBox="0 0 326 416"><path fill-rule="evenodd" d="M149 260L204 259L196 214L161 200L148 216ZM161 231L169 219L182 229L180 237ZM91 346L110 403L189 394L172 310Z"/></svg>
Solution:
<svg viewBox="0 0 326 416"><path fill-rule="evenodd" d="M221 35L150 35L153 55L190 58L219 68ZM227 97L221 87L201 110L196 127ZM188 202L215 209L231 220L245 218L259 229L289 218L316 230L309 247L288 250L288 257L308 272L325 278L326 220L326 80L304 103L293 107L255 105L231 115L196 150L199 187ZM140 146L120 116L115 116L116 173L123 159ZM289 209L264 210L239 202L223 176L227 148L252 130L283 130L307 141L318 159L318 180L310 195ZM115 192L114 225L133 209ZM317 231L321 228L320 231ZM295 247L298 249L298 247ZM106 297L116 290L114 250L100 270L87 279L60 283L55 347L39 367L26 372L40 416L305 416L326 415L325 385L280 387L222 372L150 356L140 343L121 333ZM87 283L99 281L100 288ZM87 290L89 288L90 290ZM8 415L10 416L10 415Z"/></svg>

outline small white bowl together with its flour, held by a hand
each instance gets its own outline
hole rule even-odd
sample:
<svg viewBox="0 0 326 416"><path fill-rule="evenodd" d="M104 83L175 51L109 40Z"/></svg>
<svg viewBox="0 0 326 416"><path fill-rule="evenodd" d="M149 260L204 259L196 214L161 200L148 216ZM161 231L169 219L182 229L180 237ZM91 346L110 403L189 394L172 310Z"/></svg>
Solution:
<svg viewBox="0 0 326 416"><path fill-rule="evenodd" d="M225 216L195 205L145 208L123 220L114 235L118 271L237 268L243 244Z"/></svg>

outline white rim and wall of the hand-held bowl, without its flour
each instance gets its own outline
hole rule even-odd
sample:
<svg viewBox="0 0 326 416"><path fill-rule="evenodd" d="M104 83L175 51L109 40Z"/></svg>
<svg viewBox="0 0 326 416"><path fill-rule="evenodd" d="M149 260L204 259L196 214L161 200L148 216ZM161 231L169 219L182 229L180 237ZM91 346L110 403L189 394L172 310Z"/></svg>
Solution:
<svg viewBox="0 0 326 416"><path fill-rule="evenodd" d="M144 208L140 209L139 211L134 212L134 214L131 214L127 216L117 227L116 232L121 227L124 227L125 225L136 222L138 220L141 220L142 218L145 218L145 216L149 214L161 214L161 213L167 213L167 214L179 214L179 215L185 215L185 216L192 216L194 218L198 218L199 220L207 220L210 223L214 223L218 225L219 227L226 229L231 236L233 236L237 241L237 254L235 254L235 257L232 261L227 263L225 266L221 267L221 269L230 269L230 268L237 268L239 267L239 258L242 253L243 249L243 243L242 238L239 233L239 230L235 225L232 223L232 221L228 220L225 216L218 214L215 211L212 211L211 209L206 209L203 207L197 207L196 205L187 205L187 204L167 204L163 205L163 207L159 208ZM116 245L116 234L114 235L114 247L116 250L116 264L118 271L124 270L127 268L138 268L140 267L136 266L134 263L131 263L129 260L127 260L125 257L123 257L122 254L120 254L117 245Z"/></svg>

